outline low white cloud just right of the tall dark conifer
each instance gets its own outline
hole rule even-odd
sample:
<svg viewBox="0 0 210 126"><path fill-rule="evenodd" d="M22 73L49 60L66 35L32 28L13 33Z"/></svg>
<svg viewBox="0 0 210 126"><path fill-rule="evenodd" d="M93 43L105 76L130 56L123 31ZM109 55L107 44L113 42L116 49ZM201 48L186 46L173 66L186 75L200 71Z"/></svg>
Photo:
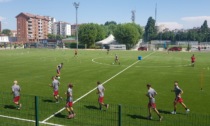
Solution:
<svg viewBox="0 0 210 126"><path fill-rule="evenodd" d="M183 28L183 25L179 24L177 22L158 22L157 25L160 26L161 29L168 28L169 30L182 29Z"/></svg>

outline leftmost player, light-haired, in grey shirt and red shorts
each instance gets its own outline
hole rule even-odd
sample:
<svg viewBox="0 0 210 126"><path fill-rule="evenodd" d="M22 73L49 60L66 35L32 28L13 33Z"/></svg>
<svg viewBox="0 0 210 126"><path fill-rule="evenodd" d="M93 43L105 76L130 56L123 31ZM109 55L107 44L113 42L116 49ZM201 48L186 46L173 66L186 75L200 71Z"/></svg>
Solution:
<svg viewBox="0 0 210 126"><path fill-rule="evenodd" d="M13 102L16 105L17 109L21 108L21 104L20 104L20 86L18 85L18 82L15 80L14 81L14 85L12 86L12 94L14 95L13 98Z"/></svg>

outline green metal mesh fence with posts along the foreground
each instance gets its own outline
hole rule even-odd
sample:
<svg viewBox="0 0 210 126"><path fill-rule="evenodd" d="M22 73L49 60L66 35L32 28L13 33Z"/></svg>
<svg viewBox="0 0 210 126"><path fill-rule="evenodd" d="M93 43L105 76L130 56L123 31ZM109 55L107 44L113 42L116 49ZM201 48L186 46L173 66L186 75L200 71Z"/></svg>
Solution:
<svg viewBox="0 0 210 126"><path fill-rule="evenodd" d="M147 119L147 108L110 104L99 110L98 103L78 101L73 108L75 118L67 119L65 100L55 103L52 97L21 95L21 110L14 106L10 93L0 93L0 126L210 126L210 115L195 113L170 114L159 110L162 122L155 113Z"/></svg>

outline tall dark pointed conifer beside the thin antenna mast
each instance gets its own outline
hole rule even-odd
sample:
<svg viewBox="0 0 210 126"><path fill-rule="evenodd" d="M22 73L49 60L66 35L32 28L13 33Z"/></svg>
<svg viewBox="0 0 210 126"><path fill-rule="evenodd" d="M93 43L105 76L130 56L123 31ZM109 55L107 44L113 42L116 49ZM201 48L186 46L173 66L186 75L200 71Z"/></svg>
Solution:
<svg viewBox="0 0 210 126"><path fill-rule="evenodd" d="M157 36L157 28L155 27L155 20L149 17L145 26L144 41L148 42Z"/></svg>

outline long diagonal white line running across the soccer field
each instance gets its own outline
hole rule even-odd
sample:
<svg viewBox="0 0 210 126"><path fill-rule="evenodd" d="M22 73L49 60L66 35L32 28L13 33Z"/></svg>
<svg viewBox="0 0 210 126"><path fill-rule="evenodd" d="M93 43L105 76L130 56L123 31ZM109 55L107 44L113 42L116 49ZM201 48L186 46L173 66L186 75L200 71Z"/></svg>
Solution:
<svg viewBox="0 0 210 126"><path fill-rule="evenodd" d="M145 57L142 58L142 59L145 59L145 58L149 57L149 56L152 55L153 53L155 53L155 52L150 53L149 55L145 56ZM123 69L123 70L120 71L119 73L115 74L114 76L112 76L112 77L109 78L108 80L104 81L104 82L102 83L102 85L106 84L108 81L112 80L113 78L115 78L116 76L118 76L118 75L121 74L122 72L126 71L127 69L129 69L130 67L132 67L133 65L135 65L135 64L138 63L138 62L139 62L139 60L136 61L136 62L134 62L134 63L131 64L130 66L126 67L125 69ZM96 90L96 89L97 89L97 87L95 87L95 88L93 88L92 90L88 91L86 94L84 94L84 95L82 95L81 97L79 97L78 99L76 99L73 103L78 102L80 99L84 98L85 96L87 96L88 94L92 93L92 92L93 92L94 90ZM44 123L44 122L46 122L47 120L51 119L51 118L54 117L56 114L62 112L64 109L65 109L65 107L62 108L62 109L60 109L58 112L54 113L53 115L49 116L49 117L46 118L45 120L43 120L42 123Z"/></svg>

